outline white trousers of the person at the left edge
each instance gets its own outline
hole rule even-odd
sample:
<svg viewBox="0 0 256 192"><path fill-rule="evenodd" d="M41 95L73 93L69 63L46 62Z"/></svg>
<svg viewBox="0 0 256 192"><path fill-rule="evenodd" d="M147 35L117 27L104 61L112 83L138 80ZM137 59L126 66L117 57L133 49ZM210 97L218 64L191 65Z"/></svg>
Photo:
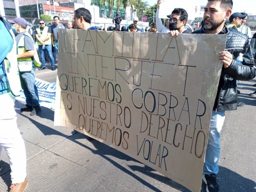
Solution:
<svg viewBox="0 0 256 192"><path fill-rule="evenodd" d="M8 155L12 183L21 183L27 176L24 141L16 123L15 98L8 93L0 95L0 160L2 149Z"/></svg>

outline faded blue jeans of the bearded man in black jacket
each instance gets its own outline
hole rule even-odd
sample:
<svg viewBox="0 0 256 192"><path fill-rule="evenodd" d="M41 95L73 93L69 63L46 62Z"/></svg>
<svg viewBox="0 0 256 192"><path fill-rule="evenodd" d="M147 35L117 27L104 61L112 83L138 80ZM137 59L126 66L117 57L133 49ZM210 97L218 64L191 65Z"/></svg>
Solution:
<svg viewBox="0 0 256 192"><path fill-rule="evenodd" d="M220 157L220 131L225 120L225 111L212 111L209 128L209 138L205 154L204 174L217 174L219 172Z"/></svg>

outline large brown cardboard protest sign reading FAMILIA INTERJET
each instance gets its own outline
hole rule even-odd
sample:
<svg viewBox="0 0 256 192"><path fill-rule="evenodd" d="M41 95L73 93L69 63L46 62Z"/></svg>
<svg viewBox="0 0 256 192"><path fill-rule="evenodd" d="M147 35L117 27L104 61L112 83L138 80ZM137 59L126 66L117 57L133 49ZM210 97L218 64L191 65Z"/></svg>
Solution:
<svg viewBox="0 0 256 192"><path fill-rule="evenodd" d="M54 125L200 191L225 40L61 29Z"/></svg>

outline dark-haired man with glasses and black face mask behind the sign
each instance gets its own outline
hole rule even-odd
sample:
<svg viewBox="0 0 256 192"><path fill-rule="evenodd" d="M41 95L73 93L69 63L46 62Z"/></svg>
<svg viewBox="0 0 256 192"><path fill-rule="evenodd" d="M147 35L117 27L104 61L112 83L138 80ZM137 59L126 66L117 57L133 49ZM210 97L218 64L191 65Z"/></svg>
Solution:
<svg viewBox="0 0 256 192"><path fill-rule="evenodd" d="M186 29L186 22L188 20L188 13L183 8L175 8L171 15L167 15L169 22L169 30L178 30L179 33L191 33Z"/></svg>

